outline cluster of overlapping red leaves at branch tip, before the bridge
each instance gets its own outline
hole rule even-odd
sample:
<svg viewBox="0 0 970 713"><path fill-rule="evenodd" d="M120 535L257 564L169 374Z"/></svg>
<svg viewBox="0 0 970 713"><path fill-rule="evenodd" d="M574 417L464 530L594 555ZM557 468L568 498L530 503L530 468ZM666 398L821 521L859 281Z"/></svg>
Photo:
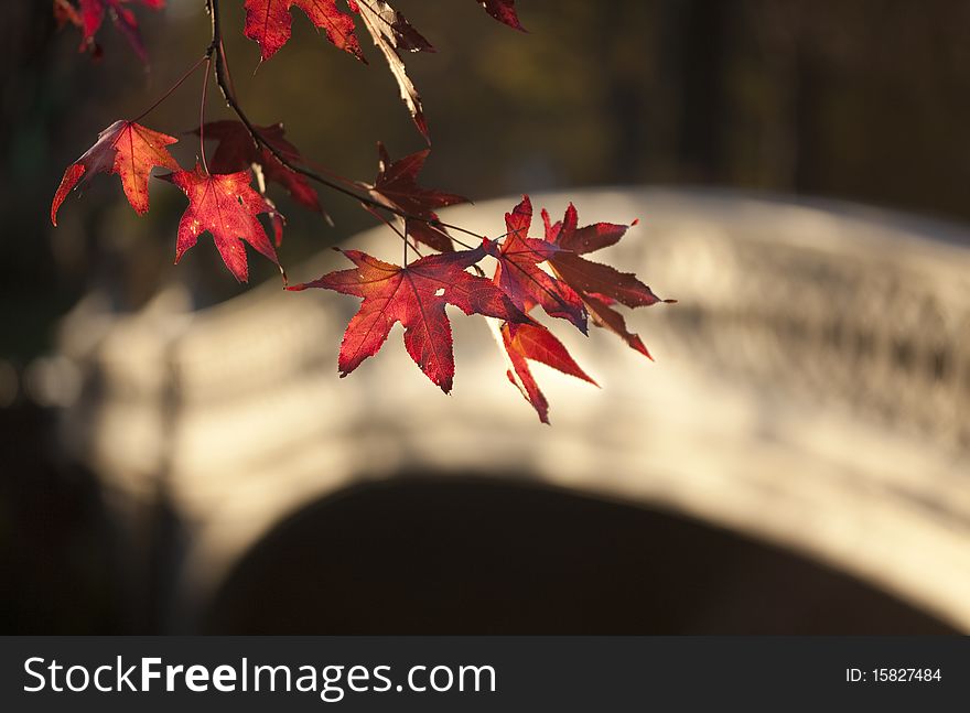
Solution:
<svg viewBox="0 0 970 713"><path fill-rule="evenodd" d="M529 313L536 307L563 318L583 334L588 317L606 327L634 349L649 357L636 334L626 331L623 315L612 305L630 307L660 302L635 276L623 273L582 257L614 245L629 226L595 223L578 227L572 204L561 223L550 225L546 236L529 236L532 206L524 196L505 216L507 233L498 240L483 239L468 250L433 255L405 267L382 262L357 250L343 251L357 267L324 274L317 280L288 288L323 288L362 298L360 310L351 320L341 344L341 376L376 355L390 328L405 327L408 354L429 379L446 393L454 379L451 326L445 304L465 314L500 320L497 327L509 368L506 372L539 419L549 422L549 403L539 389L529 361L540 361L563 374L595 383L573 360L565 346ZM492 280L466 270L491 256L495 259ZM543 269L545 267L545 269Z"/></svg>

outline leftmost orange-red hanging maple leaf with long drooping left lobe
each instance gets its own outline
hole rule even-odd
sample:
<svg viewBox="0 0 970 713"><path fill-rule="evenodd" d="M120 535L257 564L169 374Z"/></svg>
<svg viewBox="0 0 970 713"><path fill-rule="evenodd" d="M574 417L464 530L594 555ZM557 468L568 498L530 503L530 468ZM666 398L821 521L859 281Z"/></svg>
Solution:
<svg viewBox="0 0 970 713"><path fill-rule="evenodd" d="M51 223L57 225L57 210L78 184L95 173L117 173L128 203L139 214L148 210L148 179L154 166L179 170L165 148L179 139L152 131L134 121L116 121L98 134L97 142L64 171L51 203Z"/></svg>

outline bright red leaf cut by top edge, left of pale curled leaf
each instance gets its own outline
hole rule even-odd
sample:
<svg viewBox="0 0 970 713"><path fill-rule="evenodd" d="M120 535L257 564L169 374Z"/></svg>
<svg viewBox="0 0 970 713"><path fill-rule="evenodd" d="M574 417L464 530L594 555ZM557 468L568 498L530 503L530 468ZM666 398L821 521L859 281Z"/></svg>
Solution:
<svg viewBox="0 0 970 713"><path fill-rule="evenodd" d="M340 50L364 60L354 19L337 9L336 0L246 0L244 34L259 44L263 61L273 56L290 39L290 8L297 6Z"/></svg>

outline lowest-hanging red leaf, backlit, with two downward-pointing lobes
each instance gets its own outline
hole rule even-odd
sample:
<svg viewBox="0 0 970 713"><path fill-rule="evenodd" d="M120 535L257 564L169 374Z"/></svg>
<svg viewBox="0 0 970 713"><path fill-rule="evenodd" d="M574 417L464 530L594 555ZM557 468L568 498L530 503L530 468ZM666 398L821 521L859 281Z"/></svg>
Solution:
<svg viewBox="0 0 970 713"><path fill-rule="evenodd" d="M509 324L500 327L502 343L508 356L510 369L506 370L508 380L521 392L526 401L532 404L539 420L549 423L549 402L536 383L529 369L528 359L541 361L563 374L574 376L596 385L573 360L562 342L539 324Z"/></svg>

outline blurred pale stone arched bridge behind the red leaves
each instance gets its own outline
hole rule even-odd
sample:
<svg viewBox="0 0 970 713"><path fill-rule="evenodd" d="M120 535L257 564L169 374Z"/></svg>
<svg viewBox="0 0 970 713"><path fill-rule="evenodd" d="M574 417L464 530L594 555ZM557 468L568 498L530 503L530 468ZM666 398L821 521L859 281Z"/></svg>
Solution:
<svg viewBox="0 0 970 713"><path fill-rule="evenodd" d="M179 601L203 606L277 523L330 494L477 473L777 543L970 631L970 233L751 194L569 198L584 223L639 217L611 259L679 304L629 316L653 364L613 335L567 332L603 388L537 367L551 428L507 382L483 321L460 314L450 397L397 331L338 379L357 302L323 291L273 282L192 311L173 288L123 316L93 296L65 320L85 388L64 439L125 507L171 500L187 527ZM554 215L567 196L534 202ZM445 219L495 235L513 204ZM353 244L399 252L386 229ZM341 263L327 251L291 279Z"/></svg>

